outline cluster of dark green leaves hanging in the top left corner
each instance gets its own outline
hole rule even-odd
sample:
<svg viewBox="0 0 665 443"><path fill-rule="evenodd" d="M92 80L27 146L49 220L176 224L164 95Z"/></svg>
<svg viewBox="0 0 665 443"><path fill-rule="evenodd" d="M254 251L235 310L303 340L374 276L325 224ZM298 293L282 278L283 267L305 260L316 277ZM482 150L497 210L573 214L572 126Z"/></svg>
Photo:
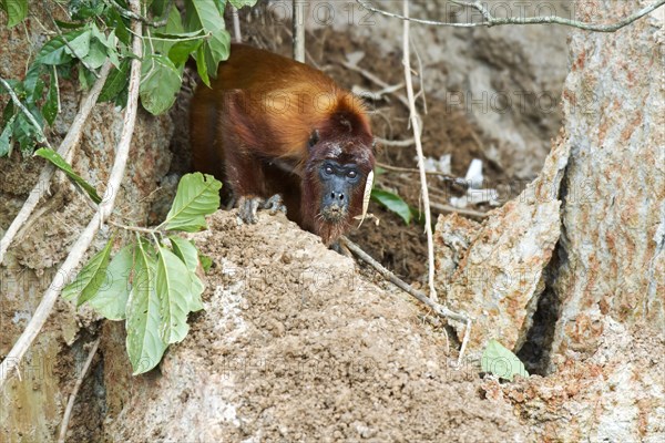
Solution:
<svg viewBox="0 0 665 443"><path fill-rule="evenodd" d="M256 0L228 2L242 8L254 6ZM190 58L195 60L198 74L209 85L218 63L228 58L231 49L231 37L224 23L226 0L188 0L183 10L175 3L173 0L142 2L140 18L145 31L140 96L143 107L155 115L166 112L175 102ZM126 1L70 0L64 4L68 20L52 19L55 35L28 64L23 80L8 81L39 127L19 106L8 101L0 114L0 157L10 155L14 145L30 154L43 142L40 137L45 126L52 125L60 112L60 79L78 80L81 89L86 90L109 61L113 70L99 102L126 105L130 61L136 58L131 50L132 14ZM7 16L7 27L12 28L28 17L29 2L0 0L0 10ZM0 87L0 94L6 93Z"/></svg>

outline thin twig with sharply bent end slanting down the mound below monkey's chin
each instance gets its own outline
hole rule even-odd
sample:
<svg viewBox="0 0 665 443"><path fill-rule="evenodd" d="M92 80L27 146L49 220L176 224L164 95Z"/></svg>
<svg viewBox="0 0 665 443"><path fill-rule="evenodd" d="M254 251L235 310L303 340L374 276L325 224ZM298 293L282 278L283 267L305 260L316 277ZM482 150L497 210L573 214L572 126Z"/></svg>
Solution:
<svg viewBox="0 0 665 443"><path fill-rule="evenodd" d="M460 348L460 356L458 358L458 367L461 365L462 357L464 356L464 351L467 350L467 343L469 342L469 334L471 332L471 319L462 313L451 311L443 305L440 305L437 301L429 298L428 296L426 296L423 292L419 291L418 289L415 289L413 287L411 287L411 285L407 284L405 280L400 279L395 274L386 269L380 262L371 258L369 254L364 251L362 248L360 248L358 245L356 245L348 238L342 236L340 237L340 240L347 248L349 248L351 253L354 253L362 261L375 268L386 280L390 281L405 292L415 297L418 301L430 308L438 316L467 324L467 328L464 329L462 347Z"/></svg>

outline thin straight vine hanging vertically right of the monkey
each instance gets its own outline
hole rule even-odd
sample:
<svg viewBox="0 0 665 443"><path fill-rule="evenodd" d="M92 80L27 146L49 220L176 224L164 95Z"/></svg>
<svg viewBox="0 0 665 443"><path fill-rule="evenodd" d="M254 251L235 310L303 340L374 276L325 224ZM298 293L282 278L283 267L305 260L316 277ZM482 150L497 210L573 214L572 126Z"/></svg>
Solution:
<svg viewBox="0 0 665 443"><path fill-rule="evenodd" d="M405 16L409 16L409 0L403 0ZM430 213L429 194L427 190L427 175L424 174L424 155L422 154L422 143L420 141L420 120L416 111L416 100L413 99L413 80L411 79L410 44L409 44L409 21L403 21L403 64L405 79L407 83L407 97L409 99L409 117L413 127L413 138L416 138L416 153L418 155L418 169L420 169L420 187L422 190L422 205L424 206L424 231L427 233L427 257L428 257L428 282L430 297L439 301L437 289L434 288L434 240L432 236L432 215Z"/></svg>

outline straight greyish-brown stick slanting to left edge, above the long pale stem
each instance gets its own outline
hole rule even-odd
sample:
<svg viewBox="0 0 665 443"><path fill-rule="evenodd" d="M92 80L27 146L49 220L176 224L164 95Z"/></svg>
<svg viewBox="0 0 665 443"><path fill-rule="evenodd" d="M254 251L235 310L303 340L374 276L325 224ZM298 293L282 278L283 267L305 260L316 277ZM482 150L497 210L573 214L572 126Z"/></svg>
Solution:
<svg viewBox="0 0 665 443"><path fill-rule="evenodd" d="M90 116L90 113L96 103L98 96L102 91L102 86L104 85L104 82L106 81L106 76L109 75L110 71L111 63L108 62L102 66L99 80L94 83L94 85L88 93L88 96L83 99L81 109L74 117L74 121L72 122L72 125L70 126L70 130L66 133L66 136L64 137L62 143L60 143L60 147L58 147L58 154L60 154L60 156L66 157L66 154L71 151L72 146L76 145L79 143L79 140L81 140L83 125L85 124L85 121ZM42 168L42 172L39 175L39 179L37 181L37 184L30 192L28 199L21 207L21 210L19 210L19 214L16 216L11 225L9 225L9 228L7 228L7 233L4 233L4 236L0 240L0 264L2 264L2 260L4 259L4 254L7 253L7 249L9 249L9 246L13 241L13 238L16 237L17 233L19 231L21 226L23 226L23 224L28 220L28 218L39 204L40 199L44 196L44 194L47 194L49 183L51 182L51 177L53 177L55 167L51 163L48 163Z"/></svg>

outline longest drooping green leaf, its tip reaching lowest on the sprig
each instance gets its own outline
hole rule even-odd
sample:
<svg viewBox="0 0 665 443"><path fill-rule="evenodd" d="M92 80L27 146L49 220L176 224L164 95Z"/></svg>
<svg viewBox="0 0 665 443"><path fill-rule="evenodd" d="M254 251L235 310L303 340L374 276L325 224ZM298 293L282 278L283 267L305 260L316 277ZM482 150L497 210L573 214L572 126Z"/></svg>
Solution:
<svg viewBox="0 0 665 443"><path fill-rule="evenodd" d="M139 241L134 249L134 280L127 299L126 349L133 374L150 371L162 360L166 344L160 337L160 298L155 287L154 258L146 251L149 245Z"/></svg>

